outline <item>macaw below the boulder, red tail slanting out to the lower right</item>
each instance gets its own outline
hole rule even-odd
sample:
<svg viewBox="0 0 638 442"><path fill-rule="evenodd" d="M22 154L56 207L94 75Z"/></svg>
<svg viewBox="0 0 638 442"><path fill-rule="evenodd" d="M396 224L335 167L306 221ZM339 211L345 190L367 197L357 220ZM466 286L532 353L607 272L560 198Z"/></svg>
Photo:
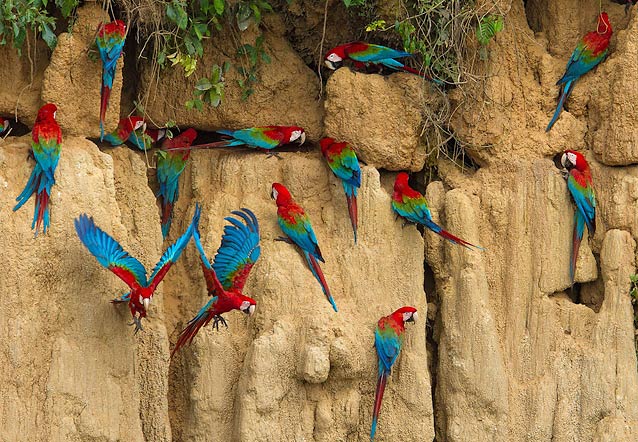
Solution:
<svg viewBox="0 0 638 442"><path fill-rule="evenodd" d="M392 209L394 209L399 216L405 218L408 222L424 225L434 233L450 241L452 244L460 244L468 249L475 247L479 250L483 250L483 247L475 246L474 244L470 244L469 242L452 235L432 221L432 214L430 213L428 202L423 195L410 187L408 179L409 177L407 173L399 172L397 179L394 182Z"/></svg>

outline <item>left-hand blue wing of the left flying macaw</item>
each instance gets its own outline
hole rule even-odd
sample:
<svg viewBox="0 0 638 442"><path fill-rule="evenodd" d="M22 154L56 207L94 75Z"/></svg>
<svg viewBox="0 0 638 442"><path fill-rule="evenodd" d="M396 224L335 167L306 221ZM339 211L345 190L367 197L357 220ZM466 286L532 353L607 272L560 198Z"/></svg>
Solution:
<svg viewBox="0 0 638 442"><path fill-rule="evenodd" d="M80 241L100 264L115 273L131 289L146 286L144 266L130 256L117 241L97 227L93 218L82 214L74 223Z"/></svg>

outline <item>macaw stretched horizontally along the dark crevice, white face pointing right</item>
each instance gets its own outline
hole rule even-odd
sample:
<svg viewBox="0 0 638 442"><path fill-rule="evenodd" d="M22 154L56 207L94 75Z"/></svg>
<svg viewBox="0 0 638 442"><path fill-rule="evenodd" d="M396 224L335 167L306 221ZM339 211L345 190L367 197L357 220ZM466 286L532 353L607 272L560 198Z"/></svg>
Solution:
<svg viewBox="0 0 638 442"><path fill-rule="evenodd" d="M218 130L217 133L230 138L193 146L193 148L247 146L270 151L294 141L297 141L299 145L306 141L306 132L298 126L249 127L240 130ZM269 155L275 154L269 153Z"/></svg>

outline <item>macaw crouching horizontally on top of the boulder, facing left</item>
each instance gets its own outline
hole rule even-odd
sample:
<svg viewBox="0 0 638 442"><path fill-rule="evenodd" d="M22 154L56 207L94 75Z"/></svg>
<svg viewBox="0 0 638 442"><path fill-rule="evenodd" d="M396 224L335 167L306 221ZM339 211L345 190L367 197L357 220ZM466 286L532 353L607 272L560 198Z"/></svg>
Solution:
<svg viewBox="0 0 638 442"><path fill-rule="evenodd" d="M355 41L332 48L324 57L324 63L329 69L335 70L343 61L351 60L356 69L365 69L367 66L378 67L381 65L395 71L408 72L423 77L426 80L432 80L432 77L429 75L422 74L416 69L395 60L396 58L412 57L413 55L414 54L410 54L409 52L397 51L396 49L391 49L386 46ZM440 81L437 81L437 83L440 83Z"/></svg>

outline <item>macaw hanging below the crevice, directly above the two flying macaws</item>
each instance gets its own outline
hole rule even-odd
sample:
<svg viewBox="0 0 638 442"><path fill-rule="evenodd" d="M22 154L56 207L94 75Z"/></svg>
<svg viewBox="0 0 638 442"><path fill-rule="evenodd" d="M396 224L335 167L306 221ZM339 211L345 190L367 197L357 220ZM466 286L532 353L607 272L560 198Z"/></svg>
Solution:
<svg viewBox="0 0 638 442"><path fill-rule="evenodd" d="M159 191L157 197L162 209L162 235L168 236L173 219L173 205L179 198L179 176L186 167L190 155L187 149L197 138L193 128L186 129L175 138L166 139L162 143L162 150L157 155L157 182Z"/></svg>

